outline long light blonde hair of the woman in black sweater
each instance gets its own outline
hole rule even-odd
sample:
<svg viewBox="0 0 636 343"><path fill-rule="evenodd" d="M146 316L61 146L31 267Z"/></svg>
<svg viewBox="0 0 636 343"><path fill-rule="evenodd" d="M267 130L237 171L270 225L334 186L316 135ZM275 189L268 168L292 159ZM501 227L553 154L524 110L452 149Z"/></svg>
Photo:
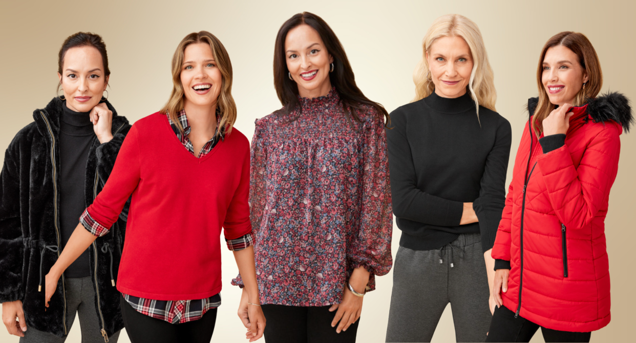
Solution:
<svg viewBox="0 0 636 343"><path fill-rule="evenodd" d="M426 53L431 51L432 43L442 37L461 37L471 50L473 71L468 89L475 102L477 118L479 118L480 105L496 111L497 91L495 90L494 75L490 62L488 62L488 54L483 44L483 38L481 38L481 32L477 24L459 14L448 14L437 18L426 32L422 41L422 59L413 72L413 82L415 83L413 101L424 99L435 91L434 83L428 78L430 69Z"/></svg>

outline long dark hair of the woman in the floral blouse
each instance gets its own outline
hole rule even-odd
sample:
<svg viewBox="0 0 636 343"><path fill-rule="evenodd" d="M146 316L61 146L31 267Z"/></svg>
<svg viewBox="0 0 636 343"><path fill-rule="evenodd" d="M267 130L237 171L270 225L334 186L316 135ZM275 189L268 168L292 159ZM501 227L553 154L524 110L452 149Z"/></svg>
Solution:
<svg viewBox="0 0 636 343"><path fill-rule="evenodd" d="M300 108L298 102L298 85L293 80L289 80L287 73L286 55L285 55L285 39L287 33L300 25L307 24L318 32L327 52L333 57L333 72L329 73L329 80L331 85L336 87L340 99L343 104L343 108L349 111L350 115L355 120L360 121L356 114L357 110L363 110L363 106L371 106L377 109L378 113L381 113L385 117L387 123L390 122L389 113L378 102L371 101L364 96L363 92L356 85L356 78L354 72L347 59L347 53L342 47L340 40L333 33L331 27L322 20L321 17L309 12L298 13L289 18L279 29L276 36L275 50L274 50L274 87L276 88L276 94L279 97L280 102L284 106L281 110L284 114L291 113L292 111Z"/></svg>

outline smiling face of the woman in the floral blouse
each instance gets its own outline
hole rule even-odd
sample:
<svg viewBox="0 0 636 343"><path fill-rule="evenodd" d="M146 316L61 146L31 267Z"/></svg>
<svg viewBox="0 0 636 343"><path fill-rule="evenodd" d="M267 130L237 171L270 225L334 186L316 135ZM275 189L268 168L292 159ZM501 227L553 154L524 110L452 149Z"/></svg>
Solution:
<svg viewBox="0 0 636 343"><path fill-rule="evenodd" d="M289 30L285 38L285 57L301 97L320 97L329 93L329 65L333 57L317 31L307 24Z"/></svg>

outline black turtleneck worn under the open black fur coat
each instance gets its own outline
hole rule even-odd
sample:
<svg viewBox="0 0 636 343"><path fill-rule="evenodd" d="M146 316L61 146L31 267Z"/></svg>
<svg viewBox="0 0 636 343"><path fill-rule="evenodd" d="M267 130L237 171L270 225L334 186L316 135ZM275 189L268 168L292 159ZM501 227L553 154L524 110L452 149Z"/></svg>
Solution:
<svg viewBox="0 0 636 343"><path fill-rule="evenodd" d="M86 209L85 178L88 152L95 138L90 112L75 112L63 105L60 116L60 226L66 246L79 216ZM88 249L64 272L66 277L90 276Z"/></svg>

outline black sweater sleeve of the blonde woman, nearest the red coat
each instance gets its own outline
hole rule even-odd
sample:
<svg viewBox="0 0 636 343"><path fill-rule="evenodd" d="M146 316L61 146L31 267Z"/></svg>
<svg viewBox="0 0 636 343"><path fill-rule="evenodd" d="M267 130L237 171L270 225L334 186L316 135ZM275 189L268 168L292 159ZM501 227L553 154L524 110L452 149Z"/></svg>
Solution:
<svg viewBox="0 0 636 343"><path fill-rule="evenodd" d="M512 129L505 118L497 127L495 144L488 153L486 167L481 177L479 197L473 201L473 209L479 219L481 249L492 249L497 226L506 202L506 171L512 144Z"/></svg>

